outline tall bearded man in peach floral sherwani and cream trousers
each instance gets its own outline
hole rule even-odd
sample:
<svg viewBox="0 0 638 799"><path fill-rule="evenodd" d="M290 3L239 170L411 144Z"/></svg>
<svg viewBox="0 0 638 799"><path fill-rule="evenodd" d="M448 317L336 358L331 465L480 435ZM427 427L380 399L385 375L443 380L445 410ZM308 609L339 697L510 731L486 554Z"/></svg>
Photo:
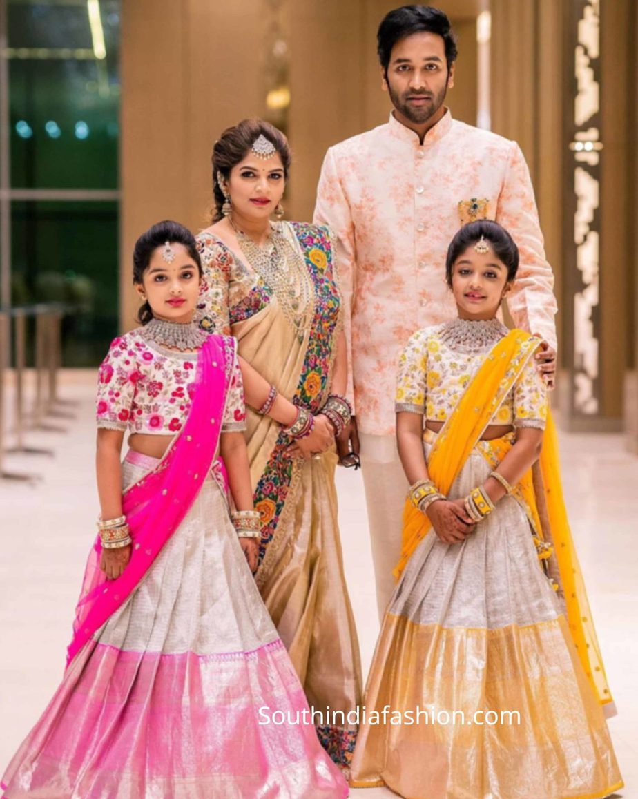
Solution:
<svg viewBox="0 0 638 799"><path fill-rule="evenodd" d="M394 105L390 121L328 150L315 222L337 238L355 408L349 435L352 451L360 441L382 614L394 588L407 490L394 443L398 353L418 328L456 316L445 282L454 233L489 218L512 234L521 268L509 311L517 327L545 340L538 368L550 386L557 306L521 149L454 121L444 105L457 57L446 14L431 6L390 11L378 29L378 57Z"/></svg>

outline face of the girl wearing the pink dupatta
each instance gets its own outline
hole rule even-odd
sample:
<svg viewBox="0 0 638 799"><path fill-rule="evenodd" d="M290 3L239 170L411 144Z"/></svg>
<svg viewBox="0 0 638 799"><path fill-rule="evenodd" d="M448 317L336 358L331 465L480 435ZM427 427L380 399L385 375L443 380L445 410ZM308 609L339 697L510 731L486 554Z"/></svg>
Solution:
<svg viewBox="0 0 638 799"><path fill-rule="evenodd" d="M200 272L184 244L169 247L175 256L172 262L164 257L164 244L155 248L135 288L143 300L149 300L157 319L190 322L200 294Z"/></svg>

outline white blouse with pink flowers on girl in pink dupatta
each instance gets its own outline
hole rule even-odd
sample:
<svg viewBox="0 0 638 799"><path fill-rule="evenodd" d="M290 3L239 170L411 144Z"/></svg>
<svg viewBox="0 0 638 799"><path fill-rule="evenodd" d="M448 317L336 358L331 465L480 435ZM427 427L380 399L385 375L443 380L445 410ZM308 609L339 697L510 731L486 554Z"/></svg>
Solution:
<svg viewBox="0 0 638 799"><path fill-rule="evenodd" d="M97 387L97 427L132 433L175 435L188 417L197 368L196 352L175 352L141 336L137 328L113 339ZM246 427L244 387L237 356L222 432Z"/></svg>

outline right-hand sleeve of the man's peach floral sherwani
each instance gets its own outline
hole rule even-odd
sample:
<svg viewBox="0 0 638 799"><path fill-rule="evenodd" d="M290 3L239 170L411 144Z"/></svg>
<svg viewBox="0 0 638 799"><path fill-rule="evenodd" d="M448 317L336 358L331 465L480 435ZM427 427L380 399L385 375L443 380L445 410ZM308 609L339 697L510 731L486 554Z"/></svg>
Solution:
<svg viewBox="0 0 638 799"><path fill-rule="evenodd" d="M496 221L509 231L521 256L507 304L517 327L543 336L556 348L554 276L545 259L545 245L529 169L521 148L515 141L511 145L496 211Z"/></svg>

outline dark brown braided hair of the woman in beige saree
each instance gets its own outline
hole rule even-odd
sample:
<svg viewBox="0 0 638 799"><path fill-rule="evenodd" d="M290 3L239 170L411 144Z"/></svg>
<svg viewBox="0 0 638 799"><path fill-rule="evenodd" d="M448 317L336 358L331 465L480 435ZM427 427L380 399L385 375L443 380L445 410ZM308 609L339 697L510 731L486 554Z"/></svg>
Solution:
<svg viewBox="0 0 638 799"><path fill-rule="evenodd" d="M212 213L212 221L218 222L223 218L221 207L224 205L224 193L217 183L217 174L220 173L224 180L228 181L231 169L250 153L252 145L256 140L263 136L271 142L271 145L279 153L283 164L283 174L288 177L290 169L291 154L290 145L283 133L263 119L244 119L239 125L227 128L212 147L212 197L215 201L215 209Z"/></svg>

